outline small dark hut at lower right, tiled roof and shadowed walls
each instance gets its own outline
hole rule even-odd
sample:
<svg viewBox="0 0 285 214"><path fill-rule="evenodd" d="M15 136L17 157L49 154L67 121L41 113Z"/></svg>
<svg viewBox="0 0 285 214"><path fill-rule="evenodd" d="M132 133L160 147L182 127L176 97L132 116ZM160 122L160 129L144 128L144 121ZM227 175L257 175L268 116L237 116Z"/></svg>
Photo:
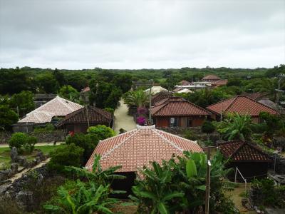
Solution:
<svg viewBox="0 0 285 214"><path fill-rule="evenodd" d="M266 178L271 160L258 146L249 142L228 141L218 143L218 148L224 158L229 159L227 167L234 169L228 175L230 180L234 180L236 168L247 182L253 178ZM237 173L237 179L241 180L239 173Z"/></svg>

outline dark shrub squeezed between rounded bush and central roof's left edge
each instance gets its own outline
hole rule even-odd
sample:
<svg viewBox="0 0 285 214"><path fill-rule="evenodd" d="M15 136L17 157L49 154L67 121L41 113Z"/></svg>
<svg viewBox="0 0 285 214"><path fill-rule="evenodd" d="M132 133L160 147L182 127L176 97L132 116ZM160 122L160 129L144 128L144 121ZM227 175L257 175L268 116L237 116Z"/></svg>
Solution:
<svg viewBox="0 0 285 214"><path fill-rule="evenodd" d="M97 146L98 140L92 141L89 135L84 135L83 133L76 133L74 136L68 136L68 138L66 138L66 144L69 145L71 143L74 143L76 146L79 146L84 149L83 163L86 163L94 148Z"/></svg>

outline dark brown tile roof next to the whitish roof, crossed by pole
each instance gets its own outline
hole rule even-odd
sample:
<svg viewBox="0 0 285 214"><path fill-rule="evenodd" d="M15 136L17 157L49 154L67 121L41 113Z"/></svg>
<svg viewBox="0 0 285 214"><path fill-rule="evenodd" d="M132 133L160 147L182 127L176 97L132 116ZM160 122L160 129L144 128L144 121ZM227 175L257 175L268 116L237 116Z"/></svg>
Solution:
<svg viewBox="0 0 285 214"><path fill-rule="evenodd" d="M110 123L113 120L112 113L105 111L95 106L88 106L88 117L90 123ZM81 108L78 111L69 113L63 121L58 123L58 126L63 126L68 123L87 123L86 108Z"/></svg>

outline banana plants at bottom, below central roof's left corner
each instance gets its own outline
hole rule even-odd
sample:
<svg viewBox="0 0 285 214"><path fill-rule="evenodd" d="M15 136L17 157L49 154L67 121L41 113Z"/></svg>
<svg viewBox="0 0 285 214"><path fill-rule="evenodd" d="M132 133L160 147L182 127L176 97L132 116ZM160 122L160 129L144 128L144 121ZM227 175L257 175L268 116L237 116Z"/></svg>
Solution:
<svg viewBox="0 0 285 214"><path fill-rule="evenodd" d="M120 166L103 170L99 161L100 156L95 156L91 171L67 167L66 170L73 171L78 180L59 187L58 195L43 207L51 213L113 213L110 208L118 203L118 200L110 198L110 194L123 193L123 191L112 190L110 184L114 179L125 177L115 175L115 170ZM79 178L85 178L87 181L83 182Z"/></svg>

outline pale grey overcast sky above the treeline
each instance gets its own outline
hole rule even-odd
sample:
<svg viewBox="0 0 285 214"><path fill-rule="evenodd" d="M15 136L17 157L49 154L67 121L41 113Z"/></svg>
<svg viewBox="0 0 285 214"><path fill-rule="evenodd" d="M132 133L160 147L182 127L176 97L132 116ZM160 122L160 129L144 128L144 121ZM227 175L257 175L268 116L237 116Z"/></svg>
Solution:
<svg viewBox="0 0 285 214"><path fill-rule="evenodd" d="M0 67L273 67L285 1L0 0Z"/></svg>

